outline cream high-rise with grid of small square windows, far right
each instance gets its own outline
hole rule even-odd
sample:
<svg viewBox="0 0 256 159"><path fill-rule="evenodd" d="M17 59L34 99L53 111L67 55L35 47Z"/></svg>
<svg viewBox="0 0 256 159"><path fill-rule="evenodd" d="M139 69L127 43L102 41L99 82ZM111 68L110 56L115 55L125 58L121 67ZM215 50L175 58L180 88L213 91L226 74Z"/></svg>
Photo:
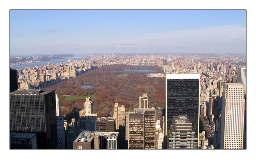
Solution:
<svg viewBox="0 0 256 159"><path fill-rule="evenodd" d="M243 149L244 113L244 85L224 83L220 149Z"/></svg>

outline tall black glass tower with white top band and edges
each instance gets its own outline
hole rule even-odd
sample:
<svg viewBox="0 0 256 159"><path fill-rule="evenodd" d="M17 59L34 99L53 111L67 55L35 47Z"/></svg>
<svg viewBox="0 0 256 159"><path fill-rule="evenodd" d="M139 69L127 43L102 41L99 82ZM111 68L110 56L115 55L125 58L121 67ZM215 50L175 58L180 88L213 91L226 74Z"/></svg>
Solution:
<svg viewBox="0 0 256 159"><path fill-rule="evenodd" d="M166 73L165 83L165 137L166 148L173 117L187 115L192 123L195 138L199 133L200 74Z"/></svg>

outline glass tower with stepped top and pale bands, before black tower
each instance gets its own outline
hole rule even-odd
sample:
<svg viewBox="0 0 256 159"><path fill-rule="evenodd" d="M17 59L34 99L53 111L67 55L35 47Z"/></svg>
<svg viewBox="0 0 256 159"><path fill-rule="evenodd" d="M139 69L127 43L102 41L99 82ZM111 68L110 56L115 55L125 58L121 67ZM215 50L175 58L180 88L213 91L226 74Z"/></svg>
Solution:
<svg viewBox="0 0 256 159"><path fill-rule="evenodd" d="M169 134L169 149L197 149L198 139L187 115L173 117Z"/></svg>

